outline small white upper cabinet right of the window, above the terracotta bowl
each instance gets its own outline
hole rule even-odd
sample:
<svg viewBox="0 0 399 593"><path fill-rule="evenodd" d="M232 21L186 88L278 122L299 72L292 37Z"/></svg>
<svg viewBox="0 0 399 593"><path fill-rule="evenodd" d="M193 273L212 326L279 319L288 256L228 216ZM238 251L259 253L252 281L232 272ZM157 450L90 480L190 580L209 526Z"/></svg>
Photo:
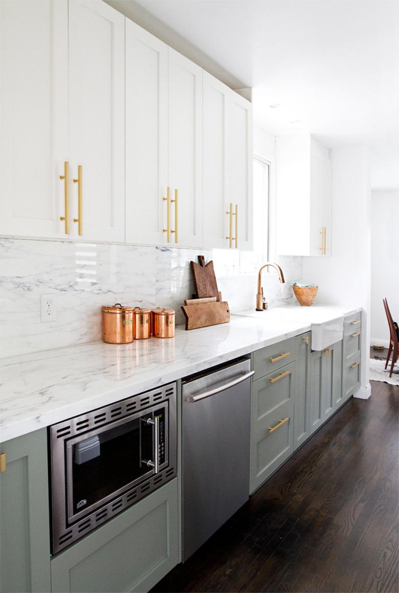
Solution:
<svg viewBox="0 0 399 593"><path fill-rule="evenodd" d="M331 254L331 164L307 133L276 139L278 253Z"/></svg>

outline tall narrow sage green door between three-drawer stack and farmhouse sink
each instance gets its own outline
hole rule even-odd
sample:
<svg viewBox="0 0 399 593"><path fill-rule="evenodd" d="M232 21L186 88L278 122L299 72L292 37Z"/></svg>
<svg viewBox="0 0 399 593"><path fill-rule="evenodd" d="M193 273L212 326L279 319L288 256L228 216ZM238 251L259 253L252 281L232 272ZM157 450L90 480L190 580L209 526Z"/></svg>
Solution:
<svg viewBox="0 0 399 593"><path fill-rule="evenodd" d="M295 374L296 388L294 397L293 415L293 448L296 449L304 443L309 432L309 364L311 332L308 331L296 337Z"/></svg>

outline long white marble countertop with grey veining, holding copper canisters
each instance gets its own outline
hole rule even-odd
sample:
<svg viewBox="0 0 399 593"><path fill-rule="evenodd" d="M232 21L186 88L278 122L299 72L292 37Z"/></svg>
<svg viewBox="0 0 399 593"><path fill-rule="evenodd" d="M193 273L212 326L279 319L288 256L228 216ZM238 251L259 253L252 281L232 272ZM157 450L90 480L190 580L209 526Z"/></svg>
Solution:
<svg viewBox="0 0 399 593"><path fill-rule="evenodd" d="M233 315L172 339L94 342L0 361L0 442L203 371L360 308L299 305ZM250 315L250 316L248 316Z"/></svg>

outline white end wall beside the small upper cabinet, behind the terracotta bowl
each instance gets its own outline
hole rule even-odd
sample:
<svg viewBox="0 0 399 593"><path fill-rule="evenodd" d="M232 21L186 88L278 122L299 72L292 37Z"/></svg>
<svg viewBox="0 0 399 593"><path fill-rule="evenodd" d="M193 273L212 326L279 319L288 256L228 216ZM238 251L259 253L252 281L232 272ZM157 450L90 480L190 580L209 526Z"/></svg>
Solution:
<svg viewBox="0 0 399 593"><path fill-rule="evenodd" d="M358 397L369 397L371 185L364 146L331 150L331 257L304 257L302 277L318 284L318 301L363 308Z"/></svg>

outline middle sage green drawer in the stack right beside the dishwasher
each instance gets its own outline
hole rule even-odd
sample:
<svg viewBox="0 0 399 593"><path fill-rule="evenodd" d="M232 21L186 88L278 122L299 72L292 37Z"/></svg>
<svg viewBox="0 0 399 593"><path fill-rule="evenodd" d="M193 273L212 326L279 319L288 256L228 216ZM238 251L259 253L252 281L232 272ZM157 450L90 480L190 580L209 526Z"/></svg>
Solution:
<svg viewBox="0 0 399 593"><path fill-rule="evenodd" d="M291 404L295 385L295 362L255 381L252 397L252 429L264 426L266 418L281 404Z"/></svg>

